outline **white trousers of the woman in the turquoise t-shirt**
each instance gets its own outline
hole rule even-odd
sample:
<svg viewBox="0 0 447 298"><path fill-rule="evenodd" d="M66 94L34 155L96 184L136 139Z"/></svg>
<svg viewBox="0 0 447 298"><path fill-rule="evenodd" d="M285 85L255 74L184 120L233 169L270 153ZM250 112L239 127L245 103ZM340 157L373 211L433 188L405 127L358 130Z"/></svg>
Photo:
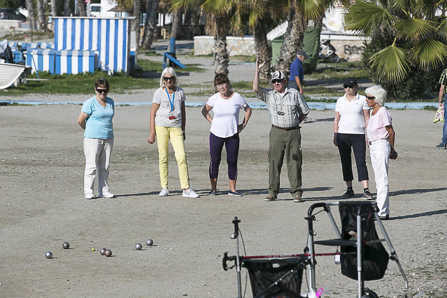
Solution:
<svg viewBox="0 0 447 298"><path fill-rule="evenodd" d="M93 194L96 169L98 170L98 192L108 193L109 162L113 139L84 138L85 172L84 194Z"/></svg>

